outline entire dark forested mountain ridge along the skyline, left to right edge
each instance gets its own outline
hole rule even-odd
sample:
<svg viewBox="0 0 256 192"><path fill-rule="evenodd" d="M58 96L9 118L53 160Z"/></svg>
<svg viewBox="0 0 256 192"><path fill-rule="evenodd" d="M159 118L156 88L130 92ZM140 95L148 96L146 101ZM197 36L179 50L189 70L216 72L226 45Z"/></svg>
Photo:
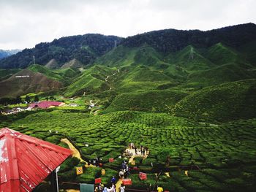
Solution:
<svg viewBox="0 0 256 192"><path fill-rule="evenodd" d="M246 35L244 35L246 34ZM219 42L233 48L245 46L256 39L256 25L245 23L236 26L228 26L208 31L163 29L149 31L132 37L121 38L116 36L104 36L101 34L84 34L78 36L61 37L53 42L41 42L32 49L22 52L0 61L0 68L26 68L33 62L33 55L37 64L45 65L51 59L64 64L72 59L78 59L82 64L93 64L101 55L115 48L115 45L124 47L140 47L147 44L160 53L173 53L192 45L196 48L211 47ZM249 60L255 58L249 54Z"/></svg>

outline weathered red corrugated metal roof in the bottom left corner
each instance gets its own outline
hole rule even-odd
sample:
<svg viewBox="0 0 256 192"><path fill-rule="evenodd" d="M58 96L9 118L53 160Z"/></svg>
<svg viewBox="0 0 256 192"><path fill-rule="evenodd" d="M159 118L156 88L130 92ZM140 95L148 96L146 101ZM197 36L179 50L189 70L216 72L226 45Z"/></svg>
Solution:
<svg viewBox="0 0 256 192"><path fill-rule="evenodd" d="M71 150L10 128L0 130L0 191L32 191Z"/></svg>

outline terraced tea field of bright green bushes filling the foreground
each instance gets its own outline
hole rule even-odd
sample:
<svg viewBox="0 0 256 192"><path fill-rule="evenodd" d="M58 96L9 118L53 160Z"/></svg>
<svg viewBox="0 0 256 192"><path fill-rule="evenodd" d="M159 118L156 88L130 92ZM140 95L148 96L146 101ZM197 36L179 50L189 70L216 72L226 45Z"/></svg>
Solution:
<svg viewBox="0 0 256 192"><path fill-rule="evenodd" d="M150 153L143 161L135 158L148 180L140 181L138 172L132 171L131 188L146 189L149 183L153 188L155 174L161 171L158 184L172 191L253 191L256 187L256 119L211 125L161 113L123 111L90 116L56 109L5 117L1 126L64 147L61 138L68 137L84 159L102 158L104 176L100 167L85 168L77 176L75 166L83 163L69 158L61 166L61 182L94 183L94 178L102 177L103 183L110 183L113 175L118 177L123 160L118 156L133 142L148 147ZM165 166L167 155L169 167ZM115 161L109 163L108 158ZM185 167L193 165L200 170Z"/></svg>

